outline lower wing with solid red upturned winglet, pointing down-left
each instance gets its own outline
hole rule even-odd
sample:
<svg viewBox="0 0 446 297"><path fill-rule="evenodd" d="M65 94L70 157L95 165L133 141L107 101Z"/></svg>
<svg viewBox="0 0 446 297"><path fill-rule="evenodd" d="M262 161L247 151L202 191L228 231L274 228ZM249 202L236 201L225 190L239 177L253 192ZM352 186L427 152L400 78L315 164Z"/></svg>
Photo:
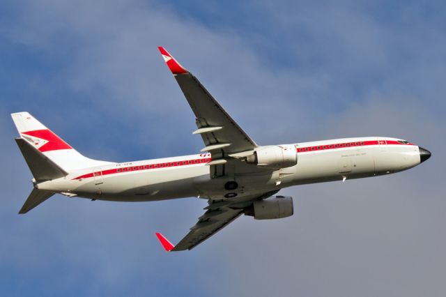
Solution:
<svg viewBox="0 0 446 297"><path fill-rule="evenodd" d="M252 197L246 197L245 202L220 200L214 202L209 200L209 205L204 209L206 212L198 219L197 224L190 228L190 232L177 245L173 245L162 234L157 233L157 238L167 252L176 252L180 250L192 250L197 245L206 241L210 236L226 227L230 222L236 220L243 213L243 205L249 206L252 201L265 199L274 195L278 191L266 192Z"/></svg>

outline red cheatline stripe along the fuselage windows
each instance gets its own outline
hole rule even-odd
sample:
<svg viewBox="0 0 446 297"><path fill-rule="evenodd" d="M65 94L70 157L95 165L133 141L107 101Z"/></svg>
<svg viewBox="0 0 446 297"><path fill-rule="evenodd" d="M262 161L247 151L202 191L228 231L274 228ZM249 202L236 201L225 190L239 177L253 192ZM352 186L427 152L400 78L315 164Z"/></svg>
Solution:
<svg viewBox="0 0 446 297"><path fill-rule="evenodd" d="M342 142L337 144L322 144L318 146L304 146L304 147L298 147L296 148L296 151L298 153L306 153L310 151L326 151L326 150L332 150L337 148L351 148L351 147L359 147L359 146L375 146L379 144L399 144L399 145L410 145L413 146L413 144L401 144L400 142L397 142L395 140L368 140L364 142ZM162 163L155 163L155 164L146 164L146 165L138 165L138 166L128 166L128 167L120 167L120 168L114 168L114 169L107 169L102 171L102 176L108 175L108 174L118 174L118 173L125 173L125 172L134 172L139 170L151 170L151 169L160 169L160 168L168 168L168 167L179 167L179 166L187 166L187 165L198 165L210 162L212 158L210 158L210 154L206 155L208 158L199 158L199 159L192 159L192 160L180 160L175 162L162 162ZM197 161L197 162L196 162ZM93 176L100 176L101 172L91 172L89 174L84 174L82 176L77 176L75 179L82 179L82 178L91 178Z"/></svg>

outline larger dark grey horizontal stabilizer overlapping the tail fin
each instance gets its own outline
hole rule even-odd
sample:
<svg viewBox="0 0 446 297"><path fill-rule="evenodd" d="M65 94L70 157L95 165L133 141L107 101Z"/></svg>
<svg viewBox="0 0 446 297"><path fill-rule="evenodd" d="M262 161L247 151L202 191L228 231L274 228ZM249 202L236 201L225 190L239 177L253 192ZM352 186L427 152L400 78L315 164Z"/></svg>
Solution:
<svg viewBox="0 0 446 297"><path fill-rule="evenodd" d="M65 170L56 165L56 163L38 151L37 148L33 147L25 139L16 138L15 142L17 142L17 146L22 151L26 164L28 164L36 181L50 181L68 175Z"/></svg>

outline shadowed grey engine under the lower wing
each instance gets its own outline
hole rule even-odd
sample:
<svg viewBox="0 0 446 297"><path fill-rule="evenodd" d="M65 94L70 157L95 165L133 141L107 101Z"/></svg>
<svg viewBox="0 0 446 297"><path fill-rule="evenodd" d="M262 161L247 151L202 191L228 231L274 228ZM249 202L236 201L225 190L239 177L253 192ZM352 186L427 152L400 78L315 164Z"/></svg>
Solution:
<svg viewBox="0 0 446 297"><path fill-rule="evenodd" d="M293 198L276 196L265 200L254 201L252 206L245 208L245 215L250 215L256 220L289 217L293 215Z"/></svg>

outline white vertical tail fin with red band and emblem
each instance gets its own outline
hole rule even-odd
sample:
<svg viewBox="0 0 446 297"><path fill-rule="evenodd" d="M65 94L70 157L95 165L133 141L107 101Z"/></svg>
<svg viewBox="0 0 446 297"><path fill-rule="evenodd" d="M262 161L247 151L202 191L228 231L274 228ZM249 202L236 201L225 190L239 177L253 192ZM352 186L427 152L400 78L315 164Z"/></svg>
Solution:
<svg viewBox="0 0 446 297"><path fill-rule="evenodd" d="M21 139L24 139L31 148L36 148L38 152L51 160L52 163L59 167L59 169L63 169L64 172L109 164L109 162L92 160L84 157L84 155L78 153L72 146L64 142L63 139L54 134L54 132L45 127L43 123L40 123L40 121L35 119L28 112L17 112L11 114L11 116L20 133ZM26 148L23 142L21 143L22 147ZM17 142L17 144L19 144L19 146L21 145L20 142ZM22 147L20 147L21 150ZM29 148L26 149L29 150ZM28 160L26 160L26 162L28 162ZM31 169L31 172L33 172L33 169Z"/></svg>

